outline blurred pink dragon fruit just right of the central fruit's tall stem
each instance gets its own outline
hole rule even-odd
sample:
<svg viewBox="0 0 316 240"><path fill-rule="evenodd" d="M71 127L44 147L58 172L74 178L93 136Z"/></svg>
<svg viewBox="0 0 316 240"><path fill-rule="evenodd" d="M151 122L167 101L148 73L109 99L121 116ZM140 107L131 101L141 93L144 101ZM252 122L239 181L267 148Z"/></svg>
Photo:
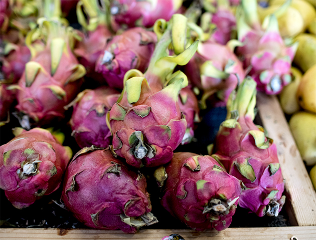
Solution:
<svg viewBox="0 0 316 240"><path fill-rule="evenodd" d="M233 52L235 44L235 40L225 46L212 41L200 43L197 53L185 66L189 80L203 90L202 108L206 108L207 99L214 94L213 103L225 106L239 79L244 79L242 63Z"/></svg>

